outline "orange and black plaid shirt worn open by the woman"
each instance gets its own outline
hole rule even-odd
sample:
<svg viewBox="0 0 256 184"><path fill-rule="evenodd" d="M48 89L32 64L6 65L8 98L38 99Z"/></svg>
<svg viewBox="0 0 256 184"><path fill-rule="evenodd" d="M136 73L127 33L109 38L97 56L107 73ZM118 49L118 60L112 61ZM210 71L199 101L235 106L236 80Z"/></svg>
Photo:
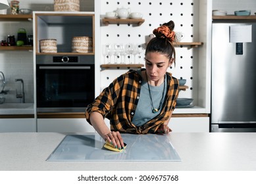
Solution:
<svg viewBox="0 0 256 184"><path fill-rule="evenodd" d="M144 68L141 70L145 70ZM116 78L101 94L88 105L86 120L90 123L91 112L99 112L108 118L111 131L120 133L155 133L166 122L176 106L178 98L178 80L166 72L167 94L163 108L158 116L143 126L132 124L132 118L140 99L142 78L136 70L130 70ZM90 123L91 124L91 123Z"/></svg>

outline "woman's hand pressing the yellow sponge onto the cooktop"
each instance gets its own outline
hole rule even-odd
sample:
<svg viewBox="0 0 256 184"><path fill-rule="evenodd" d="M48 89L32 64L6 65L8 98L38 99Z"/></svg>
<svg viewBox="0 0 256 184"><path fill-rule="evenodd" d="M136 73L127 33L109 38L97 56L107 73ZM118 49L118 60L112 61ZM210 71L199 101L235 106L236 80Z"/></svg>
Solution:
<svg viewBox="0 0 256 184"><path fill-rule="evenodd" d="M120 135L119 131L111 131L105 134L104 138L116 149L124 149L124 141L122 140L122 136Z"/></svg>

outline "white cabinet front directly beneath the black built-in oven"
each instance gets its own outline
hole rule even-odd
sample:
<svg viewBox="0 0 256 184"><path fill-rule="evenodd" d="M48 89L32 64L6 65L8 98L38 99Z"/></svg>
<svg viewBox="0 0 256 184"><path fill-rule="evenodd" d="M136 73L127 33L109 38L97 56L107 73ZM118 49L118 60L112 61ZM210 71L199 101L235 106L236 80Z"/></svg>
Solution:
<svg viewBox="0 0 256 184"><path fill-rule="evenodd" d="M38 132L94 132L85 118L38 118Z"/></svg>

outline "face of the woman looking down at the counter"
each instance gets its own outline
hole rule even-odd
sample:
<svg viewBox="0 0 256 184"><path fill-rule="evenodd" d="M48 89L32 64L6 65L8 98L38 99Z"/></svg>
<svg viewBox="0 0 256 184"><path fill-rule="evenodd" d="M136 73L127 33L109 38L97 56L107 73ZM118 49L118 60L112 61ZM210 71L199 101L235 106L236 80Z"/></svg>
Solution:
<svg viewBox="0 0 256 184"><path fill-rule="evenodd" d="M172 65L172 59L161 53L149 52L145 55L145 68L149 81L159 81L165 76L166 70Z"/></svg>

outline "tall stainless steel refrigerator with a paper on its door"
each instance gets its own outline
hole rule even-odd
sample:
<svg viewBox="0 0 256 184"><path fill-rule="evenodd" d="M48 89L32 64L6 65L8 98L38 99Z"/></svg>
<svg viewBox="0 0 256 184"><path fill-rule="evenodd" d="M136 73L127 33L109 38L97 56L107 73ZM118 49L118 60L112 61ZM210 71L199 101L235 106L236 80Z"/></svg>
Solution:
<svg viewBox="0 0 256 184"><path fill-rule="evenodd" d="M248 25L251 42L231 43L231 26ZM255 132L256 22L213 22L211 80L211 131Z"/></svg>

